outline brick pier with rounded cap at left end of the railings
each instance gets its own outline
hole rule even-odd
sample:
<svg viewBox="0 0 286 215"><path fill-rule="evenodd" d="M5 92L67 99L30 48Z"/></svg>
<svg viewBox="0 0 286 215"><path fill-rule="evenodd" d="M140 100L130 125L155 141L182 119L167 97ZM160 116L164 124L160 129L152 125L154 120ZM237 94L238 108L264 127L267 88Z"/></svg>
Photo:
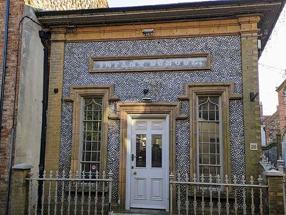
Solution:
<svg viewBox="0 0 286 215"><path fill-rule="evenodd" d="M25 215L29 205L29 173L32 165L18 164L13 169L12 195L11 195L11 214Z"/></svg>

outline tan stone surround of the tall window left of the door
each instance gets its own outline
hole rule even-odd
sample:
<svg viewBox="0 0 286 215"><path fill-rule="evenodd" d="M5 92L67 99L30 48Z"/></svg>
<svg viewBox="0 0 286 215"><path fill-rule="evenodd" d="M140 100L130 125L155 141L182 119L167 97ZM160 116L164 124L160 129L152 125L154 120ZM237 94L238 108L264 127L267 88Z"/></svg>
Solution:
<svg viewBox="0 0 286 215"><path fill-rule="evenodd" d="M101 124L101 146L100 146L100 174L107 168L107 141L108 141L108 114L109 101L118 101L119 97L114 94L114 85L71 85L70 96L64 97L65 101L73 101L73 137L71 171L76 176L80 165L80 144L82 128L82 99L84 97L102 98L102 124Z"/></svg>

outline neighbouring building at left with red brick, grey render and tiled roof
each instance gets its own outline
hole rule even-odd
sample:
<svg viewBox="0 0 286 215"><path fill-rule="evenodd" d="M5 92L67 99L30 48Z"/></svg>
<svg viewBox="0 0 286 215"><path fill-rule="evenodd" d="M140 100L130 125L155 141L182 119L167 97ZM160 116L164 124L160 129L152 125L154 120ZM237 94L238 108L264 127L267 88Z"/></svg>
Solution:
<svg viewBox="0 0 286 215"><path fill-rule="evenodd" d="M16 147L13 147L13 151L17 154L17 156L14 157L13 153L12 164L29 163L34 166L35 171L37 171L39 164L43 88L43 45L38 31L42 27L29 18L24 18L20 23L21 19L24 16L29 16L38 22L35 16L36 10L79 10L108 7L106 0L10 1L7 63L5 67L6 73L3 73L7 2L9 1L0 2L0 67L2 68L2 75L4 75L5 78L5 84L2 83L4 96L1 102L3 104L3 116L0 140L0 214L4 214L5 212L5 202L7 199L12 127L15 129L14 141L16 142ZM18 26L20 26L19 35ZM18 38L19 49L17 49ZM19 54L18 61L16 57L17 52ZM17 62L18 65L16 65ZM16 66L18 66L17 74ZM17 78L16 86L15 78ZM17 87L16 98L14 87ZM14 98L15 109L13 108ZM13 110L15 110L14 117Z"/></svg>

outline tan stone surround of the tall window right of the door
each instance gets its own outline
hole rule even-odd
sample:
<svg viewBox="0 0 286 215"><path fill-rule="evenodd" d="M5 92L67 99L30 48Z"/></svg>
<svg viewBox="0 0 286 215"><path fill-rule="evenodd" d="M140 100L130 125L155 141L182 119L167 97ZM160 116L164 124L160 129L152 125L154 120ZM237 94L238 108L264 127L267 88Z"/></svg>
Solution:
<svg viewBox="0 0 286 215"><path fill-rule="evenodd" d="M230 100L240 100L242 96L234 92L234 82L185 83L185 93L179 100L189 100L190 104L190 175L197 174L197 99L198 96L220 96L222 174L231 176L230 140ZM221 177L223 179L223 177Z"/></svg>

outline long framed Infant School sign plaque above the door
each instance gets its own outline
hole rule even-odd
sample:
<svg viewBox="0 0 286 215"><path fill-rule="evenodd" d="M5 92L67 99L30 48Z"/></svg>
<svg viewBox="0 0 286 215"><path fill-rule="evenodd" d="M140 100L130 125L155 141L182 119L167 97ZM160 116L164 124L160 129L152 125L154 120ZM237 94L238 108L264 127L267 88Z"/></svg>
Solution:
<svg viewBox="0 0 286 215"><path fill-rule="evenodd" d="M209 53L91 58L90 60L90 72L94 73L208 69L210 69Z"/></svg>

